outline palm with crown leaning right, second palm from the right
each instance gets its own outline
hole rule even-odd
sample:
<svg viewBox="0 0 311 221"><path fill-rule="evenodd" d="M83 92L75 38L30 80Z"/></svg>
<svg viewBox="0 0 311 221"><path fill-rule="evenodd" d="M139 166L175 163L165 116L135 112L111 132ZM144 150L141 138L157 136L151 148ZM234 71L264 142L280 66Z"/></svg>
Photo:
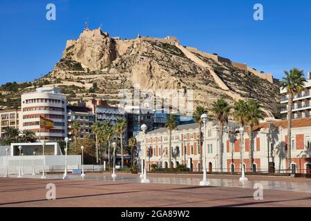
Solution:
<svg viewBox="0 0 311 221"><path fill-rule="evenodd" d="M254 141L253 141L253 127L259 124L259 120L265 117L265 113L261 110L259 102L249 99L246 102L246 124L248 125L249 137L249 169L253 171L254 164Z"/></svg>

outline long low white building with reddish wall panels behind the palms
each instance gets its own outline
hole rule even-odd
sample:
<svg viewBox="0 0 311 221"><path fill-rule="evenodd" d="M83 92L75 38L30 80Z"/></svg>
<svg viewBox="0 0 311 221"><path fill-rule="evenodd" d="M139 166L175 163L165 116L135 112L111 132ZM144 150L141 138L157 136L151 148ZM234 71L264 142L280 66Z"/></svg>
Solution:
<svg viewBox="0 0 311 221"><path fill-rule="evenodd" d="M200 171L200 151L198 145L198 124L178 126L172 131L171 164L187 164L191 171ZM206 127L207 170L220 172L220 148L218 144L219 128L216 122L208 122ZM242 138L243 137L243 138ZM204 139L204 137L202 137ZM143 134L136 139L142 148ZM160 167L169 166L169 133L166 128L159 128L145 135L146 157L151 164ZM252 169L258 172L275 173L310 173L311 169L311 118L294 119L292 122L292 162L291 171L287 171L287 121L263 122L254 128L254 164ZM241 145L243 140L243 145ZM203 144L204 145L204 144ZM241 151L246 171L249 165L249 137L247 128L243 135L236 129L226 129L223 135L223 171L241 171ZM141 152L141 151L140 151Z"/></svg>

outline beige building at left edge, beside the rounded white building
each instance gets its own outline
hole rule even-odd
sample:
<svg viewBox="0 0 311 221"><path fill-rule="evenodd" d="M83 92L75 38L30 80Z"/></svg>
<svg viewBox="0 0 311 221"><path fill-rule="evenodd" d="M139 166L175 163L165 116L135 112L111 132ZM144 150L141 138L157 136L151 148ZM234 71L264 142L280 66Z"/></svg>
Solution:
<svg viewBox="0 0 311 221"><path fill-rule="evenodd" d="M0 111L0 137L6 133L6 128L11 127L19 130L21 110Z"/></svg>

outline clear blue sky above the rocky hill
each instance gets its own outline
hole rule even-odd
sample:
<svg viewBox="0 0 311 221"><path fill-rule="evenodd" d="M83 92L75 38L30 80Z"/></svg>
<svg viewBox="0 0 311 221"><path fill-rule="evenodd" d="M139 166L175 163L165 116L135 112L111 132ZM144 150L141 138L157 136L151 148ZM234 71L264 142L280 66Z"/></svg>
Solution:
<svg viewBox="0 0 311 221"><path fill-rule="evenodd" d="M46 5L56 21L46 20ZM264 20L253 19L262 3ZM111 36L178 37L180 44L218 53L273 73L311 70L311 1L184 0L1 0L0 84L32 81L53 69L66 39L77 39L86 17L90 28Z"/></svg>

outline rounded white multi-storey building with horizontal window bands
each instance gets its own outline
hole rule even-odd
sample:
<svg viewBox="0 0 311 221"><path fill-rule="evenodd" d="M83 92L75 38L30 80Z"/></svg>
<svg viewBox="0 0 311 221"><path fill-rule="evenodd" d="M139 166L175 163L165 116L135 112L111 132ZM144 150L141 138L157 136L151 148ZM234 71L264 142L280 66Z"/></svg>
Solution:
<svg viewBox="0 0 311 221"><path fill-rule="evenodd" d="M40 116L51 119L54 128L41 128ZM67 134L66 95L59 88L37 88L21 95L21 130L33 131L42 140L64 140Z"/></svg>

